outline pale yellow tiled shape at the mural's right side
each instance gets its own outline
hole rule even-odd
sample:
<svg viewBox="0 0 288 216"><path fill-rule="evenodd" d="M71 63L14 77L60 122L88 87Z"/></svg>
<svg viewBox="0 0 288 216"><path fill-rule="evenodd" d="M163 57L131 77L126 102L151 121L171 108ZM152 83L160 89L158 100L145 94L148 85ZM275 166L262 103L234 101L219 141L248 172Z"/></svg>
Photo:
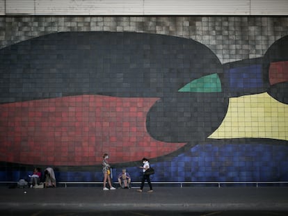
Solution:
<svg viewBox="0 0 288 216"><path fill-rule="evenodd" d="M288 140L288 105L266 92L232 97L222 124L209 138Z"/></svg>

